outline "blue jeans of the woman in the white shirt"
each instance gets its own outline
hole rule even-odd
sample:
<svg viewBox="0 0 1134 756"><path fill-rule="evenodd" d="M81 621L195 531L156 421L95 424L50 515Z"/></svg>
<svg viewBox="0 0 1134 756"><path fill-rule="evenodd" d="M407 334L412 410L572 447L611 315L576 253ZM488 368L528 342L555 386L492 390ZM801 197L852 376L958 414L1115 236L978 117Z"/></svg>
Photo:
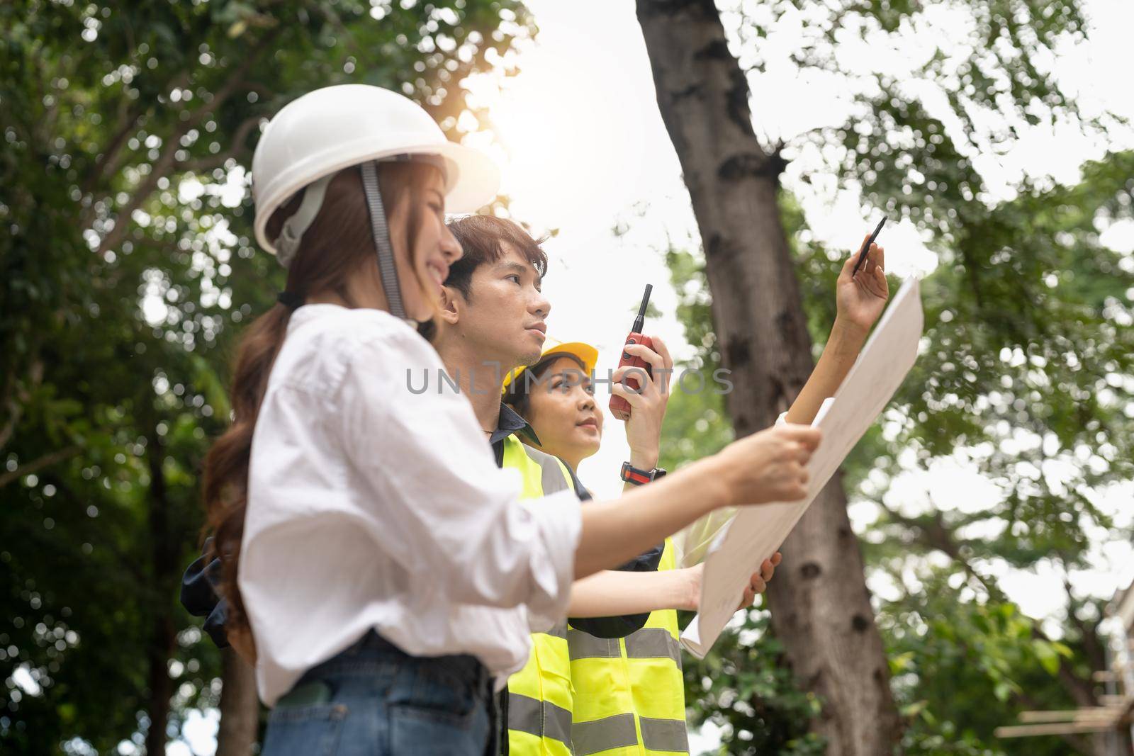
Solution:
<svg viewBox="0 0 1134 756"><path fill-rule="evenodd" d="M277 703L263 756L494 756L492 681L475 657L411 656L371 632Z"/></svg>

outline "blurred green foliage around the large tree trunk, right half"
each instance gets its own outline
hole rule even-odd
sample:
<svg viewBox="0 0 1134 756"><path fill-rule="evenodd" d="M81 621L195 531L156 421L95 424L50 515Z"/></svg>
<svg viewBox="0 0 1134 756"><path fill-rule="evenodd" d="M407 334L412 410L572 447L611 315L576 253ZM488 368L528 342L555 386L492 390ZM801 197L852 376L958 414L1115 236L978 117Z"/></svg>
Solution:
<svg viewBox="0 0 1134 756"><path fill-rule="evenodd" d="M1000 740L993 730L1025 710L1098 706L1106 694L1091 672L1109 661L1100 629L1107 597L1076 592L1067 576L1089 570L1101 544L1132 535L1114 521L1114 504L1099 503L1128 491L1118 486L1134 466L1134 257L1100 235L1132 218L1134 154L1083 165L1075 186L1022 178L1010 199L993 199L973 155L1002 150L1018 125L1067 122L1095 135L1126 125L1081 116L1051 67L1038 62L1061 37L1082 35L1077 3L953 5L973 14L971 37L953 41L967 53L933 56L902 82L846 70L838 33L881 28L900 44L934 3L729 3L722 17L733 15L726 27L739 46L788 10L812 11L801 65L846 77L861 88L861 108L843 128L772 147L823 152L832 175L863 189L864 216L881 209L913 221L939 261L922 282L919 360L843 467L850 506L869 502L856 525L868 583L883 588L874 603L905 721L903 751L1129 753L1128 733L1116 746L1082 733ZM767 65L741 60L752 70ZM949 122L928 112L937 95L948 101ZM753 107L758 134L760 104L772 103ZM786 190L780 207L818 357L841 258L813 240ZM682 292L678 316L700 345L689 365L716 367L703 255L665 254ZM663 466L730 440L720 397L678 392L670 407ZM890 495L914 469L936 469L939 485L955 472L960 485ZM964 500L972 473L991 484L978 507ZM1129 507L1128 494L1122 499ZM1049 588L1064 606L1042 622L999 585L1013 570L1038 569L1056 576ZM693 721L720 728L722 753L824 753L809 732L821 702L777 665L781 646L767 619L761 610L738 617L727 640L686 666Z"/></svg>

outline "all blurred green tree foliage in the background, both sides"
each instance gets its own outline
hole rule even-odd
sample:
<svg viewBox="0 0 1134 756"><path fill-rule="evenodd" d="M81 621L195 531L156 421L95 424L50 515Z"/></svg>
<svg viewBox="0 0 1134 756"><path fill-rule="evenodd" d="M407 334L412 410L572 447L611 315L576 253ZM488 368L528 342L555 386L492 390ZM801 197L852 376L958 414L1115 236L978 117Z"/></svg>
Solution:
<svg viewBox="0 0 1134 756"><path fill-rule="evenodd" d="M1082 736L993 738L1025 708L1097 704L1090 673L1106 664L1098 598L1052 586L1066 611L1041 623L997 576L1040 562L1066 574L1100 538L1131 537L1098 496L1134 460L1134 261L1099 237L1132 215L1134 155L1085 165L1076 186L1023 182L989 201L971 155L1013 127L990 131L980 113L1112 125L1078 119L1033 60L1082 33L1075 2L958 2L987 37L917 76L959 128L880 76L855 124L788 145L838 147L832 173L912 219L940 260L923 282L921 359L845 483L877 508L861 535L871 585L887 587L875 605L903 748L1093 754ZM897 39L934 3L752 5L722 11L739 41L803 7L820 20L799 60L837 70L836 28ZM282 282L251 235L259 126L311 88L363 82L414 96L459 139L484 116L460 80L505 65L534 20L511 0L17 0L0 28L0 750L189 753L186 723L214 722L221 690L217 649L177 603L200 547L196 475L228 413L234 339ZM781 211L818 348L839 260L786 192ZM701 253L666 256L693 362L716 366ZM719 397L677 393L662 465L729 438ZM886 495L950 459L991 482L992 507ZM778 656L753 610L704 662L686 659L691 721L717 725L727 753L823 753L809 733L821 702Z"/></svg>

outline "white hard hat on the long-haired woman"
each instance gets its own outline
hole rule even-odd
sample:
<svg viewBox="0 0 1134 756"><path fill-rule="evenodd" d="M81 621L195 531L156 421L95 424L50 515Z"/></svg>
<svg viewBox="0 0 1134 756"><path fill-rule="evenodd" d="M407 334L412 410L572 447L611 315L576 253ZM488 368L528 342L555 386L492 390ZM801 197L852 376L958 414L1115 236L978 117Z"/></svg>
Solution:
<svg viewBox="0 0 1134 756"><path fill-rule="evenodd" d="M500 184L500 172L486 155L449 142L413 100L366 84L328 86L285 105L256 144L256 241L276 253L277 240L266 236L268 220L304 187L344 168L399 155L443 161L446 212L476 210L496 196ZM319 204L321 192L315 212Z"/></svg>

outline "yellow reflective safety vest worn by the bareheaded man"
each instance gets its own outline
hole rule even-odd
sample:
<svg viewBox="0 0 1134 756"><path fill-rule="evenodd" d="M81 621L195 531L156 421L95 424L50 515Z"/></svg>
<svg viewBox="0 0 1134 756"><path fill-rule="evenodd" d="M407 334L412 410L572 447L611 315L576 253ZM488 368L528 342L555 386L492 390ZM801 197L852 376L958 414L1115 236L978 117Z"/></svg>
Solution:
<svg viewBox="0 0 1134 756"><path fill-rule="evenodd" d="M519 470L522 499L573 490L570 473L556 457L503 440L501 467ZM548 632L532 634L532 655L508 678L508 753L510 756L570 756L570 662L566 620Z"/></svg>

